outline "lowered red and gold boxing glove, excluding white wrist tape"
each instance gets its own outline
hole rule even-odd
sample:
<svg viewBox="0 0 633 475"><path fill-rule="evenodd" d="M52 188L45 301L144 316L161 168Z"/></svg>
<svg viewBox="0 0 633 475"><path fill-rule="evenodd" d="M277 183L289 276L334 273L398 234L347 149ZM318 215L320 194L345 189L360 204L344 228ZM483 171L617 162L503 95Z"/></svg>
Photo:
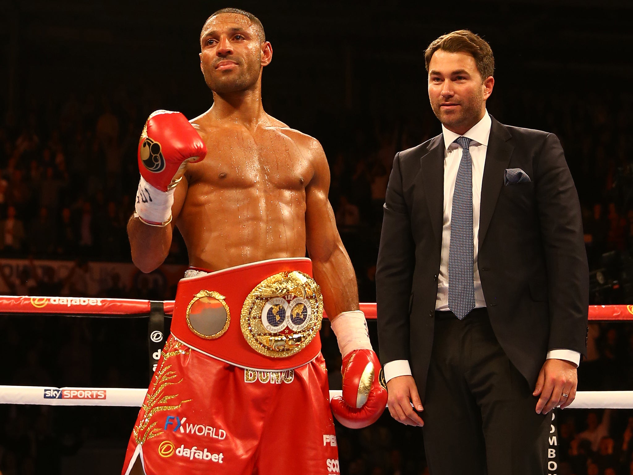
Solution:
<svg viewBox="0 0 633 475"><path fill-rule="evenodd" d="M343 358L343 396L330 402L337 421L361 429L378 420L387 405L387 390L380 386L380 362L373 350L353 350Z"/></svg>

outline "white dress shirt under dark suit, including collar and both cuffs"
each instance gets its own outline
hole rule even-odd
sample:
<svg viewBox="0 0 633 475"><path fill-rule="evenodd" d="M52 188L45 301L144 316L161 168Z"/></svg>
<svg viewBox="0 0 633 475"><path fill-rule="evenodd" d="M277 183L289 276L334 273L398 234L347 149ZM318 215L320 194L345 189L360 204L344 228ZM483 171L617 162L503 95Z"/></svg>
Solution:
<svg viewBox="0 0 633 475"><path fill-rule="evenodd" d="M492 120L488 111L484 117L473 125L463 137L470 139L470 156L472 157L473 172L473 281L475 283L475 308L486 307L484 292L481 289L481 279L477 267L477 253L479 251L479 208L481 203L481 184L484 179L484 165L486 165L486 153ZM436 310L448 311L448 248L451 243L451 212L453 210L453 193L457 170L461 162L461 146L454 143L459 136L455 132L446 129L442 125L444 134L444 221L442 224L442 252L440 257L439 275L437 276ZM556 358L567 360L576 366L580 363L580 353L573 350L550 350L548 359ZM394 360L384 367L385 381L397 376L410 376L411 368L408 360Z"/></svg>

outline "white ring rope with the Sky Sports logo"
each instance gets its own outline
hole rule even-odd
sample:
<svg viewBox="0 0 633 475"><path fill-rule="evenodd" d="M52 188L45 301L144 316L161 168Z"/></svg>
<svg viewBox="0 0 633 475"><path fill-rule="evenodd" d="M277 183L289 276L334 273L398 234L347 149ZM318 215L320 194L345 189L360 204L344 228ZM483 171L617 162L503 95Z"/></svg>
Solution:
<svg viewBox="0 0 633 475"><path fill-rule="evenodd" d="M0 404L140 407L146 389L0 386ZM342 391L330 391L330 400ZM569 409L633 409L633 391L578 391Z"/></svg>

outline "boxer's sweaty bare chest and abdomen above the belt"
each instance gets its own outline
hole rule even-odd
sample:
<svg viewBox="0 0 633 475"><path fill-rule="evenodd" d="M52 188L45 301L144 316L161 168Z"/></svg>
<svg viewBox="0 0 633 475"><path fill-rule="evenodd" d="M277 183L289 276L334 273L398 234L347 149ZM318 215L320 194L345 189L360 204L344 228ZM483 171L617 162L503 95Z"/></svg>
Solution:
<svg viewBox="0 0 633 475"><path fill-rule="evenodd" d="M280 127L201 133L208 152L187 165L177 221L191 265L224 269L305 255L305 188L315 172L293 134L299 132Z"/></svg>

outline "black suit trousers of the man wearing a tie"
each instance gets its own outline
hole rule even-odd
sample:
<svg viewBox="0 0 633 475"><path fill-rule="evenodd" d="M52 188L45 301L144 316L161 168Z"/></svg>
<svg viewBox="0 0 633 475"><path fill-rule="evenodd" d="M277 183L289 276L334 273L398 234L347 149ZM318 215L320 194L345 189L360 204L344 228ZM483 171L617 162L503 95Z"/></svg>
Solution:
<svg viewBox="0 0 633 475"><path fill-rule="evenodd" d="M485 308L436 312L423 435L431 475L546 474L551 413L536 414L525 377Z"/></svg>

